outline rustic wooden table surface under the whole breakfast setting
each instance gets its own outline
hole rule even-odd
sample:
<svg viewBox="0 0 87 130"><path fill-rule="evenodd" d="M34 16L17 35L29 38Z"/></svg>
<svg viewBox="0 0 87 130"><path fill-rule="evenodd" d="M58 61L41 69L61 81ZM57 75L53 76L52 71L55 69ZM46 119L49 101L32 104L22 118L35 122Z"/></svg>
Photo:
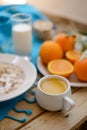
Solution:
<svg viewBox="0 0 87 130"><path fill-rule="evenodd" d="M70 25L70 21L66 20L53 19L53 21L56 25L58 23L62 29L65 24ZM17 108L31 109L33 114L27 116L11 110L9 115L20 119L26 116L28 120L25 123L19 123L5 118L0 122L0 130L87 130L87 87L72 88L72 97L76 105L69 112L68 117L64 117L61 112L43 110L37 103L29 104L21 101L17 104Z"/></svg>

